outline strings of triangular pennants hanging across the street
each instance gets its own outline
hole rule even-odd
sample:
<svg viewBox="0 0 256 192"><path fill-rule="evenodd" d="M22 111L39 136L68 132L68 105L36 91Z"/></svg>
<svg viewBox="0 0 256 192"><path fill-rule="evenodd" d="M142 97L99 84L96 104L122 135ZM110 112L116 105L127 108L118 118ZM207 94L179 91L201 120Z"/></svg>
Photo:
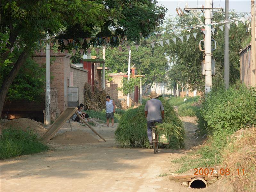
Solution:
<svg viewBox="0 0 256 192"><path fill-rule="evenodd" d="M219 24L222 24L222 23L226 23L226 22L228 21L228 22L234 22L235 25L238 27L238 21L239 21L239 20L241 20L242 23L243 23L244 25L246 25L246 18L244 18L244 17L241 18L241 19L237 19L237 18L236 18L236 19L230 19L230 20L219 21L219 22L212 23L211 25L219 25ZM247 18L247 20L249 20L249 17ZM249 22L248 22L248 24L249 24ZM225 24L225 25L227 26L227 28L228 28L228 30L229 30L229 29L230 29L230 23L227 23L227 24ZM184 27L184 28L182 28L182 29L178 29L178 31L186 30L186 31L190 32L192 29L201 28L201 30L202 30L202 32L203 32L204 35L206 35L208 32L212 32L212 33L214 34L215 28L211 28L211 31L207 31L207 30L205 30L204 28L202 28L202 27L204 27L204 26L205 26L205 25L201 25L201 24L200 24L200 25L197 25L196 27L191 27L191 26L190 26L190 27ZM221 31L223 31L223 26L224 26L224 25L218 26ZM248 30L250 30L250 28L251 28L251 26L248 25ZM183 43L183 41L184 41L184 36L186 36L186 41L188 41L191 35L193 35L193 36L194 36L194 39L196 39L197 33L198 33L198 32L195 32L195 33L192 33L192 34L183 35L183 36L177 36L177 37L178 37L178 39L180 39L180 41ZM141 35L141 34L140 34L140 35ZM177 37L174 37L174 38L171 39L171 40L174 42L174 44L176 44L176 42L177 42ZM77 44L78 41L79 41L79 44L80 44L81 47L82 47L83 44L84 44L84 41L86 41L88 47L90 47L90 44L92 43L92 42L91 42L91 39L92 39L92 38L90 38L90 37L82 38L82 39L55 39L55 40L54 40L54 39L47 39L47 40L45 40L45 41L40 41L40 45L44 45L44 43L47 43L47 44L50 44L51 47L53 47L54 44L59 44L59 41L61 41L61 43L63 42L64 46L67 46L68 44L73 44L73 45L75 45L75 44ZM95 40L96 40L96 41L95 41ZM99 43L99 44L102 43L103 46L109 44L112 40L114 41L114 43L116 43L116 41L119 40L119 41L120 41L120 44L124 44L125 42L127 42L127 36L123 36L123 37L122 37L122 36L119 35L119 36L108 36L108 37L94 37L95 43L97 43L97 44L98 44L98 43ZM55 41L55 43L54 43L54 41ZM153 41L153 42L150 43L151 46L152 46L152 49L154 48L156 42L158 42L159 45L162 46L162 47L163 47L164 42L165 42L166 44L170 45L170 39L164 39L164 40ZM139 44L135 44L134 46L135 46L136 50L138 51L138 49L139 49ZM78 47L78 46L77 46L77 47ZM121 47L120 45L118 46L118 48L119 48L120 51L122 50L122 47ZM126 48L127 48L128 50L130 50L131 45L126 46ZM99 47L95 47L95 51L96 51L96 54L97 54L97 55L98 55L98 53L99 53L99 50L100 50ZM43 53L43 52L44 52L44 49L41 49L40 51L41 51L41 53ZM72 50L72 53L75 54L76 51L77 51L77 49L73 49L73 50ZM83 55L84 49L79 49L79 52L81 53L81 55ZM90 54L91 49L88 48L88 49L87 49L87 52L88 52L88 54ZM68 50L65 50L65 53L68 53Z"/></svg>

